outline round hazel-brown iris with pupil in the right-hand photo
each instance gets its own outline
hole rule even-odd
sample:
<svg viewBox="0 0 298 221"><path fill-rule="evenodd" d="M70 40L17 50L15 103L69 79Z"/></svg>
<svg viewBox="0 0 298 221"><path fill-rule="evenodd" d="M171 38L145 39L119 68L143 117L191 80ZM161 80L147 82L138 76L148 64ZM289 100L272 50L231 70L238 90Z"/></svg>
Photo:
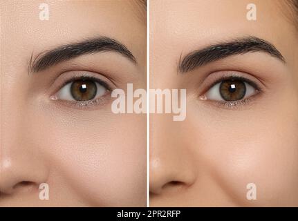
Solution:
<svg viewBox="0 0 298 221"><path fill-rule="evenodd" d="M225 101L237 101L243 99L246 92L245 83L241 80L225 80L219 86L219 93Z"/></svg>

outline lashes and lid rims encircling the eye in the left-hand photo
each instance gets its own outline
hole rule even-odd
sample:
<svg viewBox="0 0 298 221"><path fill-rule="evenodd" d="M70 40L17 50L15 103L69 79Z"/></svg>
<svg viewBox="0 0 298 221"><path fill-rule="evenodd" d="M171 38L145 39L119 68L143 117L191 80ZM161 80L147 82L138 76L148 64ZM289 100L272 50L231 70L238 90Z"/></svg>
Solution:
<svg viewBox="0 0 298 221"><path fill-rule="evenodd" d="M86 73L86 72L84 72L84 73ZM103 95L102 97L97 97L95 99L88 100L88 101L69 101L69 100L57 99L56 94L59 92L59 90L61 90L67 84L69 84L73 81L76 81L76 80L80 80L80 79L96 81L98 84L104 86L104 88L106 88L108 93L106 93L106 95ZM86 109L86 108L106 104L107 102L109 102L109 98L110 98L109 95L111 94L111 91L113 90L113 87L110 86L109 83L107 83L106 81L99 79L97 77L90 76L88 74L77 74L73 77L70 77L70 79L65 80L64 83L61 84L58 88L59 89L56 90L55 95L51 96L51 99L54 99L56 102L59 102L61 104L64 104L67 106L72 106L73 108L79 108L79 109Z"/></svg>

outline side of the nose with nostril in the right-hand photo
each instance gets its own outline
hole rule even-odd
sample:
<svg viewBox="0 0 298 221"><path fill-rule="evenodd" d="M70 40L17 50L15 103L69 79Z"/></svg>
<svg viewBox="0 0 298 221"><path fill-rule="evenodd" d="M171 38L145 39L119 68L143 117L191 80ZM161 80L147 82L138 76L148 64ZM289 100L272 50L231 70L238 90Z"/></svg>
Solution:
<svg viewBox="0 0 298 221"><path fill-rule="evenodd" d="M175 125L172 125L175 124ZM181 122L154 117L150 148L150 193L177 191L196 181L193 155L181 135Z"/></svg>

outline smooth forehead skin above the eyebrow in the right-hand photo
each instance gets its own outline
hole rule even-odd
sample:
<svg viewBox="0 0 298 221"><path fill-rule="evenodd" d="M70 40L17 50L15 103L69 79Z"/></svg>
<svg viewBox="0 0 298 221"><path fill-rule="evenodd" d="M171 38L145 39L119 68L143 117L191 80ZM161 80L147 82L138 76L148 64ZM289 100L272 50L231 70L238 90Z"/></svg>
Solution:
<svg viewBox="0 0 298 221"><path fill-rule="evenodd" d="M254 1L257 21L248 21L249 3L246 0L151 1L152 64L162 59L158 48L164 52L171 50L178 61L181 52L185 55L195 48L243 35L270 41L293 64L297 57L297 50L292 50L293 46L297 48L297 30L281 11L284 8L288 12L288 8L280 1Z"/></svg>

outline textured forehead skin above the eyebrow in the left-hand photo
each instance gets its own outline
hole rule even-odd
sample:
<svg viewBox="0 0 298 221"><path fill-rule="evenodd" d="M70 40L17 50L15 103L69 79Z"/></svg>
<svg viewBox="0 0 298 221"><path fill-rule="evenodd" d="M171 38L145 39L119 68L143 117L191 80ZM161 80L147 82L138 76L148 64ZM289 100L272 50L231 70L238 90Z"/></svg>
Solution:
<svg viewBox="0 0 298 221"><path fill-rule="evenodd" d="M140 66L145 64L145 52L140 50L145 48L145 21L135 1L46 3L50 13L48 21L39 20L39 1L1 3L1 18L5 18L1 19L1 50L17 63L24 64L28 59L19 55L30 58L32 52L37 54L61 44L104 35L127 46L140 60Z"/></svg>

